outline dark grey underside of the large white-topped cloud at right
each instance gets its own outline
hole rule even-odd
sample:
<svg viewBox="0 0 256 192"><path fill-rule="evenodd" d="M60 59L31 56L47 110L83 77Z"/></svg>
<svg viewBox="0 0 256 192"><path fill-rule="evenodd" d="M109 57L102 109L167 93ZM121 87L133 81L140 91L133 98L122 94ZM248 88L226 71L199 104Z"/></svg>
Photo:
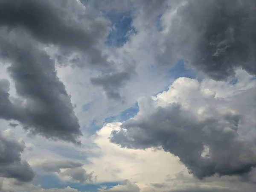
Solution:
<svg viewBox="0 0 256 192"><path fill-rule="evenodd" d="M175 89L182 87L182 84L177 85L170 88L175 94ZM255 88L246 93L251 95L246 103L254 103ZM255 111L247 114L244 108L238 107L237 113L231 113L234 110L232 106L239 102L240 96L234 97L230 103L201 98L198 93L193 96L193 93L181 91L180 94L189 94L187 101L191 97L194 107L184 110L179 103L172 103L166 107L152 108L156 104L150 99L139 103L142 112L124 122L120 131L113 131L111 142L139 149L161 146L179 157L189 172L200 179L216 174L243 175L250 172L256 166L255 139L239 137L238 131L246 127L243 122L245 116L254 118ZM242 95L246 96L245 93ZM245 103L243 105L248 108ZM224 106L227 111L218 111ZM197 116L197 110L201 107L207 108L204 111L207 118ZM251 126L255 127L255 124Z"/></svg>

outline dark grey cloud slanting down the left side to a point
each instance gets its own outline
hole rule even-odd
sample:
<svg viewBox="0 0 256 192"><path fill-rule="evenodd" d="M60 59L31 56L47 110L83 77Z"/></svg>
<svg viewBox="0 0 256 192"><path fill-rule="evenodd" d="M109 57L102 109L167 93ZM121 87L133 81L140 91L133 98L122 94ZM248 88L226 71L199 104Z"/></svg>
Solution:
<svg viewBox="0 0 256 192"><path fill-rule="evenodd" d="M70 96L58 79L55 63L22 33L1 34L0 54L11 62L8 72L22 101L10 101L9 82L2 80L0 117L20 121L31 134L79 143L81 135ZM7 57L6 57L7 55ZM3 98L3 100L2 100Z"/></svg>

